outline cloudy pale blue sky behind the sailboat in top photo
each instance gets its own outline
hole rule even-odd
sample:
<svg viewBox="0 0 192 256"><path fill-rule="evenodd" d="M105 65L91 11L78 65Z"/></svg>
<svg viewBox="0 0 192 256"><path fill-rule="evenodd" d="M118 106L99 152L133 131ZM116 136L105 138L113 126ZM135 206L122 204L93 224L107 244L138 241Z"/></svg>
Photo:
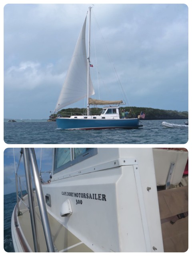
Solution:
<svg viewBox="0 0 192 256"><path fill-rule="evenodd" d="M55 109L89 6L4 6L4 118L48 119ZM188 111L188 6L92 7L92 17L96 17L128 106ZM93 46L102 41L95 33ZM124 100L112 75L114 68L110 70L109 58L105 58L105 46L93 48L91 56L94 52L97 55L97 59L92 58L91 68L95 97L99 92L103 100ZM84 101L68 107L82 108Z"/></svg>

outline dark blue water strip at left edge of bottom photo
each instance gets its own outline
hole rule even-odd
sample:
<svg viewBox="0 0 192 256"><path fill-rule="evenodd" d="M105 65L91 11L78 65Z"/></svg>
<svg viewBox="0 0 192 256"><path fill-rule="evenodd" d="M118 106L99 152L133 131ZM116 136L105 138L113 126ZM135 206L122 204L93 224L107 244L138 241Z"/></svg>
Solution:
<svg viewBox="0 0 192 256"><path fill-rule="evenodd" d="M11 236L11 216L16 205L16 193L4 195L4 250L14 252Z"/></svg>

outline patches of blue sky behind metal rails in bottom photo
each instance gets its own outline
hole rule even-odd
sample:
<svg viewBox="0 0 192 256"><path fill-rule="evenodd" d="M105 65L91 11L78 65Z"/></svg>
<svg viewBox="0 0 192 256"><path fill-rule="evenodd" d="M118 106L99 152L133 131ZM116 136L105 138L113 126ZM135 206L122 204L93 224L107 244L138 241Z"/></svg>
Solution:
<svg viewBox="0 0 192 256"><path fill-rule="evenodd" d="M20 176L22 190L26 190L25 177L22 177L25 175L23 156L20 160L20 150L21 148L6 148L4 150L4 194L16 192L16 172L18 174L18 180ZM52 152L52 148L42 148L42 162L40 164L41 148L35 148L39 171L41 170L42 172L47 172L52 170ZM42 178L44 181L49 180L49 173L42 173Z"/></svg>

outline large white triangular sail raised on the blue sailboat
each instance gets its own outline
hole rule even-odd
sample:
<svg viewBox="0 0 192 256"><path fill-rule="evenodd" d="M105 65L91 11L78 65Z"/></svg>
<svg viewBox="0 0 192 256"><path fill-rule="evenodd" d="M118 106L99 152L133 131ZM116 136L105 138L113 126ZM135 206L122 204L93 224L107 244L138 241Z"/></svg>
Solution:
<svg viewBox="0 0 192 256"><path fill-rule="evenodd" d="M72 60L58 98L55 110L68 106L87 97L87 70L88 61L86 54L86 19L84 21ZM90 95L94 94L94 88L90 79Z"/></svg>

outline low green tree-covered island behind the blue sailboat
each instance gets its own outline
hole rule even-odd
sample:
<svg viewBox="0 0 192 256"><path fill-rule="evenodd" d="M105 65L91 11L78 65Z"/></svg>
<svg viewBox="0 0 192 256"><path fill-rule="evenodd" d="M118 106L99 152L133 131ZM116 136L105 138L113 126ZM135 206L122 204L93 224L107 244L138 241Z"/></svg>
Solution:
<svg viewBox="0 0 192 256"><path fill-rule="evenodd" d="M188 111L178 111L178 110L163 110L157 108L142 108L142 107L121 107L120 110L125 109L129 112L129 118L137 117L141 112L145 114L145 118L141 120L171 120L171 119L188 119ZM80 116L85 113L84 108L66 108L59 111L57 114L52 114L48 121L55 121L58 114L63 117L70 117L72 115ZM101 114L102 108L91 108L91 114Z"/></svg>

